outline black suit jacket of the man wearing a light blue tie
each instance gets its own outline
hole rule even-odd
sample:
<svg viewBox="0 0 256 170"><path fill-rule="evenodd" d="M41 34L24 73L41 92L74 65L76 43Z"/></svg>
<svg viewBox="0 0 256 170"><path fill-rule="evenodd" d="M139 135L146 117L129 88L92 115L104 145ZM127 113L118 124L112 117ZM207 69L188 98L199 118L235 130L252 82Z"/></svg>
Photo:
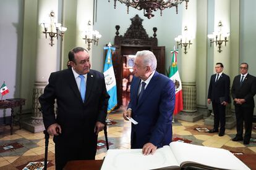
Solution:
<svg viewBox="0 0 256 170"><path fill-rule="evenodd" d="M109 95L106 92L103 73L90 70L87 73L85 103L82 102L72 69L51 73L44 94L39 97L43 110L43 122L47 129L51 124L61 126L61 136L54 136L54 142L77 140L81 136L95 136L96 121L105 123ZM58 114L55 118L54 103L57 99Z"/></svg>

